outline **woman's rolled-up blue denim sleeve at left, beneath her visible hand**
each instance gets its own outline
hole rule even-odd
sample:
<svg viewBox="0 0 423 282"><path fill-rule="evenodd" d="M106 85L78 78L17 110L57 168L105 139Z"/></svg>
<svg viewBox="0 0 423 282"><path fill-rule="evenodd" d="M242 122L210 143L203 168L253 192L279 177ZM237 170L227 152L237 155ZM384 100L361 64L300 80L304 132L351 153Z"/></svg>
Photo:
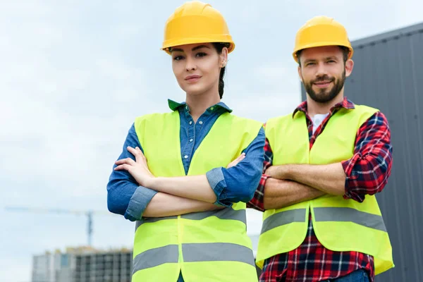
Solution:
<svg viewBox="0 0 423 282"><path fill-rule="evenodd" d="M122 153L118 159L131 158L135 160L133 154L126 149L128 146L139 147L142 150L134 125L128 131ZM138 185L128 171L115 171L115 167L116 164L113 166L107 183L107 208L109 212L121 214L130 221L139 220L157 191Z"/></svg>

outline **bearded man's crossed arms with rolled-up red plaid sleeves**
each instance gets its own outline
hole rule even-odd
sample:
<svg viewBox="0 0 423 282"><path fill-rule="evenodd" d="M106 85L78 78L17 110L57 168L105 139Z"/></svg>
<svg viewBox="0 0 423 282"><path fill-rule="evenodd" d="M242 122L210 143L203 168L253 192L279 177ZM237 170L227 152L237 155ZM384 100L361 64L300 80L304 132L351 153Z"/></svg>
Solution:
<svg viewBox="0 0 423 282"><path fill-rule="evenodd" d="M365 195L381 192L391 174L392 146L388 121L376 112L357 131L353 157L335 164L272 166L266 140L264 174L247 207L280 209L322 195L343 195L363 202Z"/></svg>

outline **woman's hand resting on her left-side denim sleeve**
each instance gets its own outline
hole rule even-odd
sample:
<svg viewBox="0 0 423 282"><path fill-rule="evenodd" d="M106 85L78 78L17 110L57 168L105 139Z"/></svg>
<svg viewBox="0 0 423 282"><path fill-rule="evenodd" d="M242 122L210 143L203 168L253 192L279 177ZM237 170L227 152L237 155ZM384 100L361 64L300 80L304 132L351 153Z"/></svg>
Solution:
<svg viewBox="0 0 423 282"><path fill-rule="evenodd" d="M133 178L135 178L139 185L149 188L155 177L149 171L147 159L144 154L142 154L140 148L135 147L134 149L133 147L128 146L127 149L128 152L135 156L135 161L131 158L119 159L118 161L115 161L115 171L124 169L125 171L128 171Z"/></svg>

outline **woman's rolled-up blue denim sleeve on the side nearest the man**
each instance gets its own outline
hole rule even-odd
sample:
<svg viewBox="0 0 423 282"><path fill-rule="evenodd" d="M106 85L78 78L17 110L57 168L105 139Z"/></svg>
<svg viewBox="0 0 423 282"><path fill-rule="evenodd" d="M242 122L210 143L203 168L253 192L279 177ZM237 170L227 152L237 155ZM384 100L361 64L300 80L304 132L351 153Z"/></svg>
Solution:
<svg viewBox="0 0 423 282"><path fill-rule="evenodd" d="M207 171L209 184L216 194L216 203L231 207L233 202L249 202L262 177L264 161L264 129L243 151L245 159L231 168L213 168Z"/></svg>

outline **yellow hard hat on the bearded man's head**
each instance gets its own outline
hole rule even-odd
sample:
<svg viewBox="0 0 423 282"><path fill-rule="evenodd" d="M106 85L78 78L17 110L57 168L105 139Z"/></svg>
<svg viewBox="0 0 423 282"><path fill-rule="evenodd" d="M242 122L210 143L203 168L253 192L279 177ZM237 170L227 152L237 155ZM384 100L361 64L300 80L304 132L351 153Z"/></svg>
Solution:
<svg viewBox="0 0 423 282"><path fill-rule="evenodd" d="M295 47L293 57L298 62L297 52L312 47L338 45L350 49L348 59L354 54L353 47L351 47L348 39L347 30L333 18L326 16L317 16L307 20L305 25L302 25L295 37Z"/></svg>

